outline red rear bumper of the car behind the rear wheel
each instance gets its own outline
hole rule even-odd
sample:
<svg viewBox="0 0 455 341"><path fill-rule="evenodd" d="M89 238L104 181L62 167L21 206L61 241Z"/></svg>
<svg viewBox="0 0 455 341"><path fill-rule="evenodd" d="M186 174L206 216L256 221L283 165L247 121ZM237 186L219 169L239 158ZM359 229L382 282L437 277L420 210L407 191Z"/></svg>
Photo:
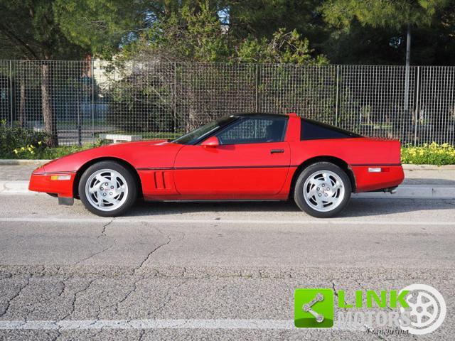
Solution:
<svg viewBox="0 0 455 341"><path fill-rule="evenodd" d="M405 179L401 165L351 166L355 176L355 192L394 188Z"/></svg>

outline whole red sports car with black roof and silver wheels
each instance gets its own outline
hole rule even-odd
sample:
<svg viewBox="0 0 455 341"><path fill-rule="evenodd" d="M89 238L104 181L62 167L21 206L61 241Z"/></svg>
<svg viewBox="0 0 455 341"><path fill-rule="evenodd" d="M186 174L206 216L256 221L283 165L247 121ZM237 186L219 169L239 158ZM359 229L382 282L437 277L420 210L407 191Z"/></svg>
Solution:
<svg viewBox="0 0 455 341"><path fill-rule="evenodd" d="M371 139L296 114L236 114L173 141L110 144L33 171L30 190L80 198L101 216L137 200L288 200L331 217L350 193L394 190L400 142Z"/></svg>

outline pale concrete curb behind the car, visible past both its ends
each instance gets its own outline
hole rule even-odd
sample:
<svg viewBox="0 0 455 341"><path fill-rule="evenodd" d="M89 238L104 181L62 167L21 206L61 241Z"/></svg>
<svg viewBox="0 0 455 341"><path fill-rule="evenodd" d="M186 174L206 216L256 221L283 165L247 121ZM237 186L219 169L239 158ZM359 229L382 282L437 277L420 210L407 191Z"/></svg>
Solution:
<svg viewBox="0 0 455 341"><path fill-rule="evenodd" d="M28 190L28 181L0 180L1 194L28 194L37 192ZM437 185L400 185L397 193L384 192L354 193L353 197L368 197L378 199L455 199L455 187Z"/></svg>

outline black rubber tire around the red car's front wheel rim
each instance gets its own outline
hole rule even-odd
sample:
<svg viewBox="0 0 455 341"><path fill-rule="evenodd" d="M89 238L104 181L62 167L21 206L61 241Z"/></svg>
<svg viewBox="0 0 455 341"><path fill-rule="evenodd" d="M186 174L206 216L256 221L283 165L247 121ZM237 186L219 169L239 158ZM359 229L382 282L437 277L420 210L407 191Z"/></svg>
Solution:
<svg viewBox="0 0 455 341"><path fill-rule="evenodd" d="M87 194L85 193L85 186L87 185L87 181L90 180L92 174L103 169L116 171L122 175L127 185L127 195L125 195L124 200L122 200L122 204L112 210L101 210L100 208L95 207L95 205L92 205L91 200L87 198ZM101 217L117 217L124 214L124 212L127 212L127 210L132 207L137 199L138 193L138 184L132 173L127 168L122 166L122 164L115 161L100 161L87 168L80 177L78 188L80 201L82 201L85 208L95 215L100 215Z"/></svg>

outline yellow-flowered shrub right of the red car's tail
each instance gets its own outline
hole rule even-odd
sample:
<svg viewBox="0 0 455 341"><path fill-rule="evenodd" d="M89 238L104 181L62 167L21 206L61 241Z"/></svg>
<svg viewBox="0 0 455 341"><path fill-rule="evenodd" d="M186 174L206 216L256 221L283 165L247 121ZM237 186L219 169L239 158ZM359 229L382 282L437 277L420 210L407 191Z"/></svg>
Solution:
<svg viewBox="0 0 455 341"><path fill-rule="evenodd" d="M455 148L450 144L424 144L420 147L404 146L401 149L402 163L416 165L454 165Z"/></svg>

